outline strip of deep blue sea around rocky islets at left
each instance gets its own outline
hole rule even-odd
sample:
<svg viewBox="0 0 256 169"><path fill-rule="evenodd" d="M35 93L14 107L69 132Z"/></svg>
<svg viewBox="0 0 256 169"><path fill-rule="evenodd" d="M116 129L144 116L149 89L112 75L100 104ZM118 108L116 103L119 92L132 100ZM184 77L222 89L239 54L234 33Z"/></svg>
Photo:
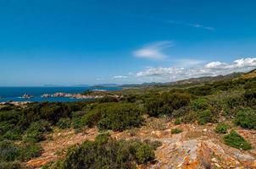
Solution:
<svg viewBox="0 0 256 169"><path fill-rule="evenodd" d="M41 97L43 94L81 93L86 90L121 90L119 87L0 87L0 102L6 101L86 101L86 99L74 99L69 97ZM22 95L33 95L33 98L21 98Z"/></svg>

